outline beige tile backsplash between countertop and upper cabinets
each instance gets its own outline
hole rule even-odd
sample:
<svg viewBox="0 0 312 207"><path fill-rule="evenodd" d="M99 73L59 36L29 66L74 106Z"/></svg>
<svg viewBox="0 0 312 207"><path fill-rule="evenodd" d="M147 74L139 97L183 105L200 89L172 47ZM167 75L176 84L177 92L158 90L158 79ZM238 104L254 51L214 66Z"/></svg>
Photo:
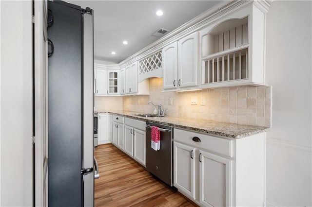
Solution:
<svg viewBox="0 0 312 207"><path fill-rule="evenodd" d="M234 86L185 92L162 92L162 78L150 78L150 95L96 97L96 110L153 113L152 101L173 117L271 126L272 87ZM192 104L193 103L193 104Z"/></svg>

